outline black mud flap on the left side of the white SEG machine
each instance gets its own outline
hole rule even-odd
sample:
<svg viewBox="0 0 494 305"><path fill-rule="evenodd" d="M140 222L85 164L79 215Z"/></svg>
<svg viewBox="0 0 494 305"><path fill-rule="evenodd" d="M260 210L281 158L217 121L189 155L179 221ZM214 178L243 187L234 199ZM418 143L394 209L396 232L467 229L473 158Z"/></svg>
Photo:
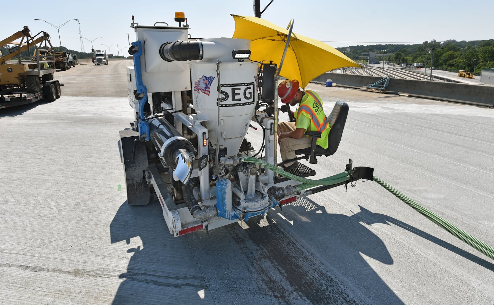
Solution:
<svg viewBox="0 0 494 305"><path fill-rule="evenodd" d="M139 141L139 133L131 130L120 131L120 157L124 164L127 203L146 205L150 201L150 187L144 177L148 169L146 145Z"/></svg>

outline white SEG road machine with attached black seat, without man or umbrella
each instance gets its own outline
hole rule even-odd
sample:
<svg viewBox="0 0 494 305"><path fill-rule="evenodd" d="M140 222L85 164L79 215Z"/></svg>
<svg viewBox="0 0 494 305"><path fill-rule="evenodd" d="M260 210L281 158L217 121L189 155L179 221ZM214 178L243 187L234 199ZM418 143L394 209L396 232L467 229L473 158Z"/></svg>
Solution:
<svg viewBox="0 0 494 305"><path fill-rule="evenodd" d="M134 121L120 131L128 204L157 199L170 233L178 237L372 180L373 169L353 168L351 160L343 172L318 180L308 179L315 171L301 163L289 172L281 169L277 64L250 61L247 39L191 38L184 14L175 13L175 21L178 26L139 26L132 16L134 66L126 69ZM313 145L297 151L297 160L316 164L317 156L334 153L347 113L348 105L336 102L328 117L330 147L317 146L318 135L311 134ZM263 133L257 151L246 138L252 124Z"/></svg>

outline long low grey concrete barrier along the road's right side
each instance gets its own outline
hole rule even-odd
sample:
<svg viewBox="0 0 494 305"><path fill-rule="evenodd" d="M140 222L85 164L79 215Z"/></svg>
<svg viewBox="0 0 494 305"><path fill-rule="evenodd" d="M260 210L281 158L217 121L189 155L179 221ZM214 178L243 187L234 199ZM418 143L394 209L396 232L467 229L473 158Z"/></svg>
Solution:
<svg viewBox="0 0 494 305"><path fill-rule="evenodd" d="M314 81L326 83L327 79L331 79L337 86L362 88L377 82L382 77L328 72L314 79ZM490 85L390 78L386 93L407 94L427 99L480 106L494 106L494 86Z"/></svg>

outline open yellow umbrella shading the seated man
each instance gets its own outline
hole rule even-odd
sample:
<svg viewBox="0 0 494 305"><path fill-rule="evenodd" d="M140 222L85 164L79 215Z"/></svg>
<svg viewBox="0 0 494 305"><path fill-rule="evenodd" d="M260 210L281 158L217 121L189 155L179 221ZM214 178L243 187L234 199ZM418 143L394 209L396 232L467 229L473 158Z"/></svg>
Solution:
<svg viewBox="0 0 494 305"><path fill-rule="evenodd" d="M233 15L233 38L250 40L250 59L280 66L289 31L257 17ZM343 53L316 39L291 33L280 75L297 79L302 88L317 76L337 68L360 67Z"/></svg>

